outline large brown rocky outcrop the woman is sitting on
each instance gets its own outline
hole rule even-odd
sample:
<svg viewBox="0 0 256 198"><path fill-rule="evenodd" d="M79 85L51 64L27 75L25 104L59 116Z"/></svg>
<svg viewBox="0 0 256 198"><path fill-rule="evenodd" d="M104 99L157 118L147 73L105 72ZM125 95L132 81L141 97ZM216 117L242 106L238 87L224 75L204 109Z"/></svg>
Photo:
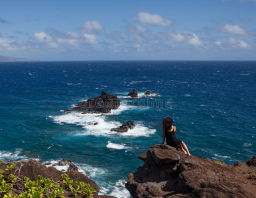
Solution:
<svg viewBox="0 0 256 198"><path fill-rule="evenodd" d="M139 156L145 163L127 175L133 197L254 197L255 161L225 165L187 156L168 145L154 145Z"/></svg>

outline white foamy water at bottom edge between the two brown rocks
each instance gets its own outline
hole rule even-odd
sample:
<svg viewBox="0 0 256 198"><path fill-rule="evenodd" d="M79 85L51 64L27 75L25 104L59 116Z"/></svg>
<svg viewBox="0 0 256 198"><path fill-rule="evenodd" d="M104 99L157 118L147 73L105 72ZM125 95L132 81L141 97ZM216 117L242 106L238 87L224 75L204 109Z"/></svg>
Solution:
<svg viewBox="0 0 256 198"><path fill-rule="evenodd" d="M129 191L125 188L125 181L110 182L107 187L100 187L99 195L111 195L117 198L131 197Z"/></svg>

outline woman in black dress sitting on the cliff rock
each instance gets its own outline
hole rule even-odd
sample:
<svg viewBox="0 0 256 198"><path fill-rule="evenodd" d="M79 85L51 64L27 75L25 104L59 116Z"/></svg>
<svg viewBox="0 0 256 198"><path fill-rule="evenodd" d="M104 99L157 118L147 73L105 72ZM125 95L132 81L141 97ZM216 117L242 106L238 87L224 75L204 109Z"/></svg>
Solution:
<svg viewBox="0 0 256 198"><path fill-rule="evenodd" d="M166 117L162 120L162 143L164 144L166 138L166 144L171 147L175 147L176 149L182 150L185 154L191 156L188 151L188 147L186 144L179 139L176 139L176 127L172 125L173 121L170 117Z"/></svg>

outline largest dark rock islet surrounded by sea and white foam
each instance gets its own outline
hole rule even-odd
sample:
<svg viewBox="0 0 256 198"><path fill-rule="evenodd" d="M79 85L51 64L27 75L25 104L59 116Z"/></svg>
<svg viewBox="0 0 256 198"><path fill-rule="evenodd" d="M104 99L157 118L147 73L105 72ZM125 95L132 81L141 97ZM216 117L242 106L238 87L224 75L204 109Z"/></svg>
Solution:
<svg viewBox="0 0 256 198"><path fill-rule="evenodd" d="M78 102L73 110L86 110L88 112L109 113L111 110L116 110L120 106L120 99L116 95L109 95L102 92L101 96L90 98L87 101Z"/></svg>

